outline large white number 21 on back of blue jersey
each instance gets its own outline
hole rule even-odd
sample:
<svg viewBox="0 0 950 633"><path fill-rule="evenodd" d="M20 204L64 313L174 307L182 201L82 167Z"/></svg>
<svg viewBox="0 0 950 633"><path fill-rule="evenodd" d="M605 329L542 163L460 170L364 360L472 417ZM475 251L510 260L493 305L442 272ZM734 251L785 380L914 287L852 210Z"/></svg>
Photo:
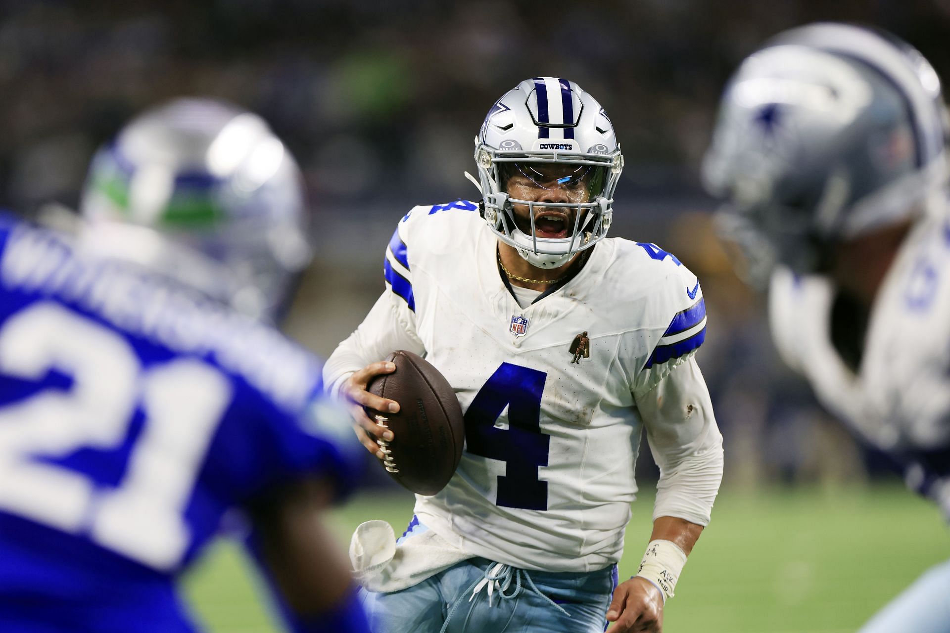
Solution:
<svg viewBox="0 0 950 633"><path fill-rule="evenodd" d="M111 329L41 302L0 328L0 373L72 378L0 408L0 510L91 540L151 568L178 565L191 534L182 516L225 408L230 383L198 360L142 369ZM119 448L136 409L145 422L116 488L47 460Z"/></svg>

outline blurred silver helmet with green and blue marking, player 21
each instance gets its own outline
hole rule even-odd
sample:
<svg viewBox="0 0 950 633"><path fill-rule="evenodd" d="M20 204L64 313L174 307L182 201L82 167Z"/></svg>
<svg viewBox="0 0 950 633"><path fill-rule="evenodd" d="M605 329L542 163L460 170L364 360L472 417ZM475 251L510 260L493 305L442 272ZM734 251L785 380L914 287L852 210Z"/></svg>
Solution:
<svg viewBox="0 0 950 633"><path fill-rule="evenodd" d="M311 259L294 158L260 117L209 99L147 110L93 158L86 248L273 321Z"/></svg>

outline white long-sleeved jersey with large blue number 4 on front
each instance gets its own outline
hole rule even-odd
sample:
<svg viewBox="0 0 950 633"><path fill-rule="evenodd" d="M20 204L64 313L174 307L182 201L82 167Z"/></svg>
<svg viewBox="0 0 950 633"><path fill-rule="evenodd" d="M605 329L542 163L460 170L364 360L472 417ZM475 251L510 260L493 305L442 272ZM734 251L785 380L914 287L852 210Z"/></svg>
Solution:
<svg viewBox="0 0 950 633"><path fill-rule="evenodd" d="M387 290L325 368L338 388L398 346L454 387L466 449L442 492L417 495L419 520L519 568L616 563L645 424L662 474L655 515L706 525L722 438L693 360L706 333L693 273L654 244L606 239L522 308L497 248L473 202L412 209L387 251Z"/></svg>

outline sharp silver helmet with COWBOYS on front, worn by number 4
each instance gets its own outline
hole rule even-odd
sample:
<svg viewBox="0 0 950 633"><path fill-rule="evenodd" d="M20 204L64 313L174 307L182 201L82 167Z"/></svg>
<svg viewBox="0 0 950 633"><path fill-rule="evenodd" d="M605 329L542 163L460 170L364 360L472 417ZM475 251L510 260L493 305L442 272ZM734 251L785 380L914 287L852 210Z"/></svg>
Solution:
<svg viewBox="0 0 950 633"><path fill-rule="evenodd" d="M492 232L531 265L558 268L607 234L623 157L603 108L578 84L536 77L495 102L475 138L482 214ZM509 195L513 175L544 187L540 163L569 166L557 184L584 183L578 202L536 202ZM530 234L518 228L513 205L527 207ZM575 209L564 237L539 237L535 223L545 210Z"/></svg>

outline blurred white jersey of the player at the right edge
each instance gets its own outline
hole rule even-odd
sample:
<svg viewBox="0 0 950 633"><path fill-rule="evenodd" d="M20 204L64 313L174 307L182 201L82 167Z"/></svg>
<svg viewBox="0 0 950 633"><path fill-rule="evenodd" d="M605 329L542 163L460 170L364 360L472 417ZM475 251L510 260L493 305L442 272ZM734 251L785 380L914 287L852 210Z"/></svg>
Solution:
<svg viewBox="0 0 950 633"><path fill-rule="evenodd" d="M835 287L776 270L772 337L819 400L860 436L909 466L922 492L950 513L950 221L921 219L905 239L871 309L852 370L831 340ZM921 470L922 469L922 470Z"/></svg>

